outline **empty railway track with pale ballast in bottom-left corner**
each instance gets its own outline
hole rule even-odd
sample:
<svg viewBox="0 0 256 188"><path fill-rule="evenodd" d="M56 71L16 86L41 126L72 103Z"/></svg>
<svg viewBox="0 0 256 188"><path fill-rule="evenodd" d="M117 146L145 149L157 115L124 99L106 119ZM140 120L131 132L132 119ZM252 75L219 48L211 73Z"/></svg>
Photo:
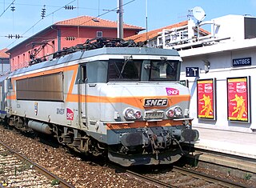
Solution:
<svg viewBox="0 0 256 188"><path fill-rule="evenodd" d="M0 142L0 187L74 187Z"/></svg>

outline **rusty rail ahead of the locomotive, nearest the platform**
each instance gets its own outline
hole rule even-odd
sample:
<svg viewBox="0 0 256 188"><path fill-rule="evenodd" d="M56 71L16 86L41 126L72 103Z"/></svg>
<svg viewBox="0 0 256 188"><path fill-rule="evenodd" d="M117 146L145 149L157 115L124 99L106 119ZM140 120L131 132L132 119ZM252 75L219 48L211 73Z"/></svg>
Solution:
<svg viewBox="0 0 256 188"><path fill-rule="evenodd" d="M187 170L187 169L179 167L179 166L173 166L173 170L176 171L176 172L179 172L181 174L190 175L190 176L193 176L194 178L203 179L207 182L213 182L213 183L221 185L221 186L232 187L232 188L233 187L234 188L241 188L241 187L250 188L250 186L245 186L245 185L242 185L240 183L231 182L229 180L214 177L214 176L209 175L209 174L199 173L199 172L196 172L194 170Z"/></svg>

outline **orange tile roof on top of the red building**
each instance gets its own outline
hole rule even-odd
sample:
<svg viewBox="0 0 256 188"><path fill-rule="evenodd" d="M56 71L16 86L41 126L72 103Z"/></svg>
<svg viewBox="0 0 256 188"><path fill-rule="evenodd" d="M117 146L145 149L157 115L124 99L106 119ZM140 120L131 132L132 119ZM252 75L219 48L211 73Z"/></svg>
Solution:
<svg viewBox="0 0 256 188"><path fill-rule="evenodd" d="M117 22L90 16L80 16L78 18L66 19L64 21L56 22L54 25L117 28ZM123 29L145 30L140 26L132 26L126 23L123 24Z"/></svg>

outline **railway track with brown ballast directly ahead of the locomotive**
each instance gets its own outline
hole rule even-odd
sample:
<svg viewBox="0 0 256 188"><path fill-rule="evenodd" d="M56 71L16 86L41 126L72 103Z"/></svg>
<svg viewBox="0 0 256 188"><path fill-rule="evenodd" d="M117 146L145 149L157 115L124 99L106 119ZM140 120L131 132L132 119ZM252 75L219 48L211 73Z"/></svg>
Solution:
<svg viewBox="0 0 256 188"><path fill-rule="evenodd" d="M122 171L120 167L118 170ZM202 174L193 170L187 170L182 167L173 166L172 170L166 170L158 173L141 173L135 172L134 170L125 170L127 174L136 178L142 179L143 181L154 183L160 187L207 187L207 188L218 188L218 187L244 187L249 188L250 186L244 186L240 183L230 182L226 179L213 177L208 174Z"/></svg>

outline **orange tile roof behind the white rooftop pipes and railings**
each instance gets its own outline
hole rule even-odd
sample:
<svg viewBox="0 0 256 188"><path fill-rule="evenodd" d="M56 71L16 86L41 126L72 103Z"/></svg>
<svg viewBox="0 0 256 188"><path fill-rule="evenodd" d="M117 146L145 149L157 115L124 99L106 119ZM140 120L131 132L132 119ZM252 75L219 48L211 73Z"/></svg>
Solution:
<svg viewBox="0 0 256 188"><path fill-rule="evenodd" d="M164 26L164 27L156 29L156 30L150 30L147 33L136 34L134 36L130 36L130 37L125 38L125 39L126 40L131 39L131 40L134 40L134 42L145 42L147 39L152 39L152 38L158 37L158 33L162 32L162 30L164 30L164 29L170 30L170 29L175 28L175 27L186 26L187 24L188 24L188 21L183 21L183 22L175 23L175 24L170 25L170 26ZM200 28L200 30L201 30L202 33L210 34L206 30L202 30L201 28Z"/></svg>

